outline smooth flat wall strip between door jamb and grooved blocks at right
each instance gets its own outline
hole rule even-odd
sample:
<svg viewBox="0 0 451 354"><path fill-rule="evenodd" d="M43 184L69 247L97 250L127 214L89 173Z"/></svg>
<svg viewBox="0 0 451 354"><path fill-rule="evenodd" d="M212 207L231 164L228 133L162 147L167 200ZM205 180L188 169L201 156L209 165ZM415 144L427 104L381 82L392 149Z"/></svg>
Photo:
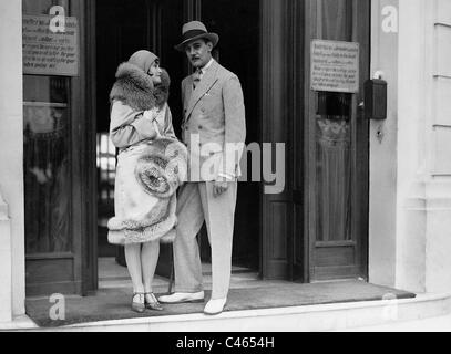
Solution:
<svg viewBox="0 0 451 354"><path fill-rule="evenodd" d="M428 139L428 33L433 1L400 0L397 188L397 287L426 291Z"/></svg>

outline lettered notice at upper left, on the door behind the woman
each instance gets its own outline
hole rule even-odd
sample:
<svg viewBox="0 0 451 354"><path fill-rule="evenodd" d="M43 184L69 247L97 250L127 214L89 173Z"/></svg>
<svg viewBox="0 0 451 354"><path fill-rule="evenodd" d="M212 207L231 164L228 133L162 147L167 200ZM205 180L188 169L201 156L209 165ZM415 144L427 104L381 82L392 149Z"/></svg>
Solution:
<svg viewBox="0 0 451 354"><path fill-rule="evenodd" d="M78 76L80 64L79 23L64 18L64 30L51 30L51 15L23 15L23 73Z"/></svg>

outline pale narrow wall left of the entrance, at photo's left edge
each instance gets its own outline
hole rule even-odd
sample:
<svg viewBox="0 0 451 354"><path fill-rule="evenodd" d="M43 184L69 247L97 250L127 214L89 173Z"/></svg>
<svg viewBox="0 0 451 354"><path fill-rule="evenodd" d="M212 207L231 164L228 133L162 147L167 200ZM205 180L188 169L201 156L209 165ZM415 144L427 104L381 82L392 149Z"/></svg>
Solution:
<svg viewBox="0 0 451 354"><path fill-rule="evenodd" d="M0 194L10 219L10 232L0 228L0 250L11 248L11 252L0 254L0 287L2 293L7 291L3 287L12 288L8 292L12 295L13 315L24 313L25 295L21 19L21 0L0 1ZM9 278L11 285L3 283ZM9 304L1 300L0 316L10 312Z"/></svg>

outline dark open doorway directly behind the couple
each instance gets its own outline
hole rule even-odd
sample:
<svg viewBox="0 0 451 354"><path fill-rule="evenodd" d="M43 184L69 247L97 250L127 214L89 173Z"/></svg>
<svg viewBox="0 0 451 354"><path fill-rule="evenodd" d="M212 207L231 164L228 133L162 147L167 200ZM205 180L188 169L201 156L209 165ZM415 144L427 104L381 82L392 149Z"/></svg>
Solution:
<svg viewBox="0 0 451 354"><path fill-rule="evenodd" d="M123 248L109 244L106 223L114 214L114 178L116 150L109 138L109 92L114 83L117 65L140 50L157 54L162 67L172 80L170 107L177 137L181 137L182 104L180 84L191 73L184 54L174 50L181 39L185 21L199 19L209 31L221 37L215 59L235 72L240 79L246 104L247 142L259 142L259 1L246 1L227 13L227 1L176 0L96 0L95 1L95 52L96 52L96 175L98 175L98 257L100 277L102 264L125 267ZM243 21L246 17L247 22ZM223 34L222 33L227 33ZM233 272L259 273L259 186L242 183L235 218ZM201 257L205 274L209 274L211 252L205 227L199 233ZM157 274L171 274L171 247L162 246ZM110 259L106 261L106 259ZM116 264L115 264L116 266Z"/></svg>

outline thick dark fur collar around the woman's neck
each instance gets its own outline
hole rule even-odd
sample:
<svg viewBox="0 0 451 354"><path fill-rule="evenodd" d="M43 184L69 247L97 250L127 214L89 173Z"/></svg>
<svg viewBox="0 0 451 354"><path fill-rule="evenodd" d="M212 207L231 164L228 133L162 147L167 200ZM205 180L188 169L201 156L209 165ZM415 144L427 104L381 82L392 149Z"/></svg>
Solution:
<svg viewBox="0 0 451 354"><path fill-rule="evenodd" d="M170 95L170 75L162 70L162 83L154 87L152 79L140 67L122 63L117 67L116 82L110 93L111 102L119 100L134 111L161 107Z"/></svg>

